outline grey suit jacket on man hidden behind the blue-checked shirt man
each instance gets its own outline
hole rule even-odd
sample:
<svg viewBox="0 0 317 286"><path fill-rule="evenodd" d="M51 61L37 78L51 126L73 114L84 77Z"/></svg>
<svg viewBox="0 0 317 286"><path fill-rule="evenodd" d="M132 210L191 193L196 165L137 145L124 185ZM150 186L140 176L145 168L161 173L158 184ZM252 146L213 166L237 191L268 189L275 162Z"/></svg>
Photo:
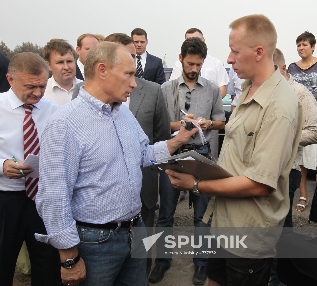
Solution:
<svg viewBox="0 0 317 286"><path fill-rule="evenodd" d="M137 88L133 89L130 97L130 110L140 126L149 137L150 144L171 138L171 123L161 86L158 83L135 77ZM77 97L79 88L85 82L77 83L72 100ZM147 208L157 203L158 180L157 168L142 169L141 198Z"/></svg>

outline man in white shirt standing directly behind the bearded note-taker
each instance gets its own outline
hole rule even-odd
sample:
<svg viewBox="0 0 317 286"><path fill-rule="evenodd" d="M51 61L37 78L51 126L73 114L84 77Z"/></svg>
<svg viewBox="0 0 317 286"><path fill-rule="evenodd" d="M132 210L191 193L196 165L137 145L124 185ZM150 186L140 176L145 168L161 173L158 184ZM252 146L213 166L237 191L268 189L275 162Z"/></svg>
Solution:
<svg viewBox="0 0 317 286"><path fill-rule="evenodd" d="M205 43L203 32L197 28L191 28L186 31L185 40L192 37L198 37ZM177 60L170 80L177 79L182 72L182 63ZM219 59L207 55L200 70L200 76L210 80L212 83L216 83L220 88L222 98L226 96L226 85L229 83L229 78L223 63ZM218 145L218 130L212 130L210 137L211 160L216 163L218 160Z"/></svg>

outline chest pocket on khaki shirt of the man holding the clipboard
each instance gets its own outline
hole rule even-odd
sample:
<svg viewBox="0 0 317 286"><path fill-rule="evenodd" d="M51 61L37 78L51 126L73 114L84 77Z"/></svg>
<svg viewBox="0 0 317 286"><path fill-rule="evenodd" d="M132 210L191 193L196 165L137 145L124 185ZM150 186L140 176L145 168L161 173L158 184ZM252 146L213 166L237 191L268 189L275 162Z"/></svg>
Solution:
<svg viewBox="0 0 317 286"><path fill-rule="evenodd" d="M248 165L253 154L255 135L248 136L246 134L253 132L252 130L246 130L243 123L237 124L230 128L230 137L233 139L233 150L240 160Z"/></svg>

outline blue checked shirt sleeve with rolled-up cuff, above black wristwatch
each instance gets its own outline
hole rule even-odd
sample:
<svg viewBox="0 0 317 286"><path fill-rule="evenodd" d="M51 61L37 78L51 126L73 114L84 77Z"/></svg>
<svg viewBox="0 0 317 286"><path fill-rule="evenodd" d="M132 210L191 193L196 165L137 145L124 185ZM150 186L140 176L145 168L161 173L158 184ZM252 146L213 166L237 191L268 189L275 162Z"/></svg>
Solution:
<svg viewBox="0 0 317 286"><path fill-rule="evenodd" d="M80 155L78 140L67 123L48 122L40 143L36 195L36 208L48 234L35 234L35 237L57 249L71 248L80 242L70 205Z"/></svg>

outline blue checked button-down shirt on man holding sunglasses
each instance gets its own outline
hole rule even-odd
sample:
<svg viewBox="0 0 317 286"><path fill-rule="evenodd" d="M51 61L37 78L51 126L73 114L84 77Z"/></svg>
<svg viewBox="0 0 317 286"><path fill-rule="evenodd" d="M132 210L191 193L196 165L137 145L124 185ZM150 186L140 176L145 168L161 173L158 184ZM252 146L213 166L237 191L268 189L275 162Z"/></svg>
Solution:
<svg viewBox="0 0 317 286"><path fill-rule="evenodd" d="M149 145L126 106L114 103L111 111L81 87L42 132L36 208L48 235L36 239L67 249L80 242L74 219L131 219L141 210L140 166L168 156L166 141Z"/></svg>

